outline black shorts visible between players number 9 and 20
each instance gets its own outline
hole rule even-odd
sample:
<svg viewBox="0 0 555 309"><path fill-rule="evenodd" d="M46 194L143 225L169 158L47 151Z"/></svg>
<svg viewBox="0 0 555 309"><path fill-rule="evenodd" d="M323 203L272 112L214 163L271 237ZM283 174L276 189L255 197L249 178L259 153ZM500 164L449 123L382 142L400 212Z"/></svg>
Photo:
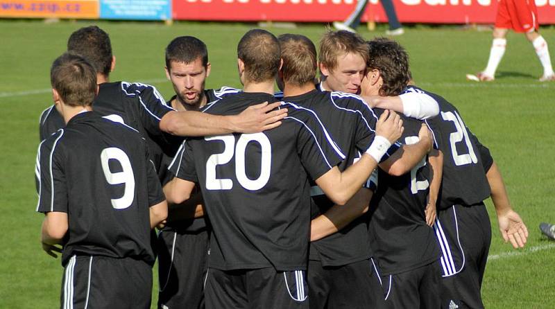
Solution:
<svg viewBox="0 0 555 309"><path fill-rule="evenodd" d="M160 231L158 308L204 308L208 231Z"/></svg>

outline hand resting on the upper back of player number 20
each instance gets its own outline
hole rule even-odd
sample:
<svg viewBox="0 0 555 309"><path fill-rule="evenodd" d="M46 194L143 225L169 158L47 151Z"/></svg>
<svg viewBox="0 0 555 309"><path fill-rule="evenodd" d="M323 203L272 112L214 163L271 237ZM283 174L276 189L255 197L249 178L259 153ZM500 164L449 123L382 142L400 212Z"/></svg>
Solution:
<svg viewBox="0 0 555 309"><path fill-rule="evenodd" d="M287 108L276 109L280 105L281 102L264 102L248 107L241 114L232 117L234 131L258 133L278 127L282 124L280 120L287 116Z"/></svg>

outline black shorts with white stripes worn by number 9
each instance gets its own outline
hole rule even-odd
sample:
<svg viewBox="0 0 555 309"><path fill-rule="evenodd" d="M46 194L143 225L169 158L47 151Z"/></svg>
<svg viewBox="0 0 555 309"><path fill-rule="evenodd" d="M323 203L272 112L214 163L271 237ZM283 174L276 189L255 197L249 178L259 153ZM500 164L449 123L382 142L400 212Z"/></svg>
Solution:
<svg viewBox="0 0 555 309"><path fill-rule="evenodd" d="M132 258L72 256L61 308L151 308L152 267Z"/></svg>

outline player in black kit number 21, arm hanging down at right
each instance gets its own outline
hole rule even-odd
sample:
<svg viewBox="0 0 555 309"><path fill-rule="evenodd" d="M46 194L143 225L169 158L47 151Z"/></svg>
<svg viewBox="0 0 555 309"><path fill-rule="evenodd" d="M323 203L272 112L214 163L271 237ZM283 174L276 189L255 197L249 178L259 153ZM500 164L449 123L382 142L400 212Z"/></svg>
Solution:
<svg viewBox="0 0 555 309"><path fill-rule="evenodd" d="M388 39L375 39L371 44L382 46L382 57L404 53L399 44ZM511 207L488 148L466 127L459 110L445 98L418 87L409 86L404 92L429 94L440 109L440 114L430 122L442 132L443 141L439 144L444 154L438 218L434 224L441 248L441 308L484 308L480 290L491 224L483 201L492 197L499 230L513 247L524 247L528 237L526 225Z"/></svg>

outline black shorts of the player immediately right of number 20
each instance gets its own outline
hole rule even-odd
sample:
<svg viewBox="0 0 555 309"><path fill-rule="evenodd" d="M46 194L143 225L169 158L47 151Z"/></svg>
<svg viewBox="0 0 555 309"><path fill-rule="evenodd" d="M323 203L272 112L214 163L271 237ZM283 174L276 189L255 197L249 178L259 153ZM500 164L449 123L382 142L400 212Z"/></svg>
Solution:
<svg viewBox="0 0 555 309"><path fill-rule="evenodd" d="M307 281L311 309L385 306L384 289L373 259L336 267L309 261Z"/></svg>

